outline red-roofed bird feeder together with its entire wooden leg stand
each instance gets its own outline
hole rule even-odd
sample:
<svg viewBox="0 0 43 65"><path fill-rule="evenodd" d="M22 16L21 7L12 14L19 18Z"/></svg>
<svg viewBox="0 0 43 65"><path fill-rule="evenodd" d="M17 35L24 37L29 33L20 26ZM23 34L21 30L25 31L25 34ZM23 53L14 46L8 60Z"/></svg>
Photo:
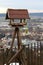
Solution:
<svg viewBox="0 0 43 65"><path fill-rule="evenodd" d="M23 56L21 57L23 48L21 46L22 42L21 42L19 27L23 27L24 25L26 25L27 23L25 22L25 19L30 19L30 17L29 17L27 9L8 9L7 13L6 13L6 19L10 19L9 25L14 27L15 30L14 30L14 34L12 37L10 50L7 53L8 54L8 56L6 58L7 61L5 63L6 63L6 65L9 65L14 59L15 62L17 62L17 60L18 60L19 64L21 65L22 63L20 61L23 57ZM20 19L20 23L18 23L18 22L15 23L14 22L15 19ZM24 20L24 22L22 22L22 20ZM11 56L11 50L13 48L14 39L15 39L16 35L17 35L18 50L15 54L13 54L13 56ZM9 59L9 57L10 57L10 59ZM16 58L17 58L17 60L16 60ZM22 64L22 65L24 65L24 64Z"/></svg>

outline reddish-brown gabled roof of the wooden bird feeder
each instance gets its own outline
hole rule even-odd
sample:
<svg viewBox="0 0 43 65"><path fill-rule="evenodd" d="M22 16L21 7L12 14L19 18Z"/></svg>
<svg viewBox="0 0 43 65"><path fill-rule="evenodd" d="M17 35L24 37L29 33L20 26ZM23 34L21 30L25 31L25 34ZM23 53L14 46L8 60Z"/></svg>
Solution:
<svg viewBox="0 0 43 65"><path fill-rule="evenodd" d="M29 19L27 9L8 9L6 19Z"/></svg>

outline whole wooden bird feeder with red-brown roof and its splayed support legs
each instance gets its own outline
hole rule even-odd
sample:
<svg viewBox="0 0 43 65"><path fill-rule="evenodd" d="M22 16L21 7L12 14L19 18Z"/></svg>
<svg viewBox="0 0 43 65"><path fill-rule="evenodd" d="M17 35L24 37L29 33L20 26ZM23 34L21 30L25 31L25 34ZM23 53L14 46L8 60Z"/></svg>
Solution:
<svg viewBox="0 0 43 65"><path fill-rule="evenodd" d="M9 24L12 27L15 27L14 34L13 34L13 37L12 37L10 51L13 49L14 39L15 39L16 35L17 35L16 38L17 38L17 46L18 46L18 48L17 48L18 52L16 52L16 54L13 57L11 57L11 59L9 61L7 61L7 65L9 65L11 63L11 61L13 61L12 59L14 59L15 57L18 57L17 55L18 55L18 53L20 53L19 50L21 51L23 49L19 27L23 27L24 25L26 25L25 21L26 21L26 19L30 19L30 17L29 17L27 9L8 9L7 13L6 13L6 19L10 19ZM15 22L15 19L19 20L19 22L18 21ZM9 53L10 53L10 51L9 51Z"/></svg>

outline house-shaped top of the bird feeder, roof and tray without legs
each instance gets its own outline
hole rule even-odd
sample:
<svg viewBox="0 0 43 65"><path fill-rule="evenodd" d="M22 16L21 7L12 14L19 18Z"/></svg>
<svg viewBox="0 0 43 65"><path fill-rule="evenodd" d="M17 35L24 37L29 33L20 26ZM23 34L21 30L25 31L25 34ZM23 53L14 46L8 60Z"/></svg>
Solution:
<svg viewBox="0 0 43 65"><path fill-rule="evenodd" d="M29 14L27 9L8 9L6 13L6 19L10 19L9 24L12 26L23 26L26 25L26 19L29 19ZM14 20L20 20L20 22L15 22Z"/></svg>

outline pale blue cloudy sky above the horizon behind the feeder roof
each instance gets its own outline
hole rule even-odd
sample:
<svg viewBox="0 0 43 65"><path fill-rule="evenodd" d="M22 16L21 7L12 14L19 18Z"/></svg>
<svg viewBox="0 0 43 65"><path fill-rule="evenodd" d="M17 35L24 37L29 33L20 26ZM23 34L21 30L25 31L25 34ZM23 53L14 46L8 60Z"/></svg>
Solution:
<svg viewBox="0 0 43 65"><path fill-rule="evenodd" d="M0 13L5 13L8 8L43 12L43 0L0 0Z"/></svg>

